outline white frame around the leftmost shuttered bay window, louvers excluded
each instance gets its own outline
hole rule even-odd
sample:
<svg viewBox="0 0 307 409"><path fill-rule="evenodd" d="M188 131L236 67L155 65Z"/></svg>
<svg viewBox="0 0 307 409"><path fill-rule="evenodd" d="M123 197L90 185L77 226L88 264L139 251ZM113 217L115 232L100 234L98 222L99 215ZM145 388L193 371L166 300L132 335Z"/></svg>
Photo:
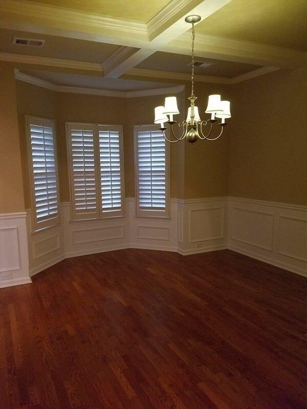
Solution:
<svg viewBox="0 0 307 409"><path fill-rule="evenodd" d="M30 196L31 196L31 231L32 233L39 232L51 228L60 223L60 196L59 196L59 178L58 178L58 163L57 163L57 148L56 148L56 130L55 121L46 118L32 117L26 115L26 135L27 135L27 151L28 151L28 165L29 165L29 181L30 181ZM33 174L33 160L31 148L31 134L30 125L47 126L52 128L53 146L54 146L54 160L55 160L55 177L56 177L56 194L57 194L57 215L48 220L41 222L37 221L36 217L36 202L34 191L34 174Z"/></svg>

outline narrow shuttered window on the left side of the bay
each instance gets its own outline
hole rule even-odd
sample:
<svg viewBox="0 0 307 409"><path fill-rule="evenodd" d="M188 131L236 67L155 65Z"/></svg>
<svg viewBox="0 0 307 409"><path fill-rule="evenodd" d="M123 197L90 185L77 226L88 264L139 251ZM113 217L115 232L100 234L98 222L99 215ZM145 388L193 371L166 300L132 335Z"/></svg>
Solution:
<svg viewBox="0 0 307 409"><path fill-rule="evenodd" d="M33 207L33 230L59 222L58 174L54 121L26 117L30 181Z"/></svg>

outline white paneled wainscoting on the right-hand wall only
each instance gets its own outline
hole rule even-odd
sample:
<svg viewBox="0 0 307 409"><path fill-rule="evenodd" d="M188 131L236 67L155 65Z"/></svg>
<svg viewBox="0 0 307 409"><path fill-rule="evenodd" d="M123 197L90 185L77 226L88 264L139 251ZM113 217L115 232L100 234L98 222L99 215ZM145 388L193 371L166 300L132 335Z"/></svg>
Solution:
<svg viewBox="0 0 307 409"><path fill-rule="evenodd" d="M307 207L228 198L228 248L307 276Z"/></svg>

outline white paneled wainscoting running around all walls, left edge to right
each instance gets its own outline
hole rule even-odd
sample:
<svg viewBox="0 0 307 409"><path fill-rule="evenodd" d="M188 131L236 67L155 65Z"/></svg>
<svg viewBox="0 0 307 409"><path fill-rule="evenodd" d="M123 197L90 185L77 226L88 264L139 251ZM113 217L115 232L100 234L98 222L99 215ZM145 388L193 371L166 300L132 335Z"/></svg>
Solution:
<svg viewBox="0 0 307 409"><path fill-rule="evenodd" d="M170 217L138 217L126 198L125 216L70 221L60 205L60 224L31 233L26 213L0 215L0 288L30 282L30 276L69 257L121 248L182 255L230 248L307 276L307 207L237 197L171 199ZM28 245L29 243L29 245ZM29 249L29 255L28 255ZM3 280L3 274L12 278Z"/></svg>

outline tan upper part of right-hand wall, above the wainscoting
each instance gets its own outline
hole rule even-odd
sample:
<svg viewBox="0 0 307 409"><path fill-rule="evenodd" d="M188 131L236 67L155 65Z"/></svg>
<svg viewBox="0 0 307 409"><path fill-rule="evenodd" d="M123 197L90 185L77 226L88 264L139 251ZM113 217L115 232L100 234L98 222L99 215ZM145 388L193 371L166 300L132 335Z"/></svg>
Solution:
<svg viewBox="0 0 307 409"><path fill-rule="evenodd" d="M229 194L307 205L307 69L232 89Z"/></svg>

